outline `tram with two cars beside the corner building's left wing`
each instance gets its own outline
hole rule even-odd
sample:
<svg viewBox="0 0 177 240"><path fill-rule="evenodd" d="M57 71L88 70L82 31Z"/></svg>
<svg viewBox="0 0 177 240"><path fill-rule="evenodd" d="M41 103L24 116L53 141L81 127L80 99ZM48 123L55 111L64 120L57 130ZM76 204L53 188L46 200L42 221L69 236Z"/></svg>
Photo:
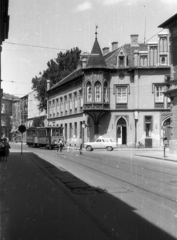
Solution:
<svg viewBox="0 0 177 240"><path fill-rule="evenodd" d="M30 127L26 130L26 144L33 147L53 149L63 138L62 127Z"/></svg>

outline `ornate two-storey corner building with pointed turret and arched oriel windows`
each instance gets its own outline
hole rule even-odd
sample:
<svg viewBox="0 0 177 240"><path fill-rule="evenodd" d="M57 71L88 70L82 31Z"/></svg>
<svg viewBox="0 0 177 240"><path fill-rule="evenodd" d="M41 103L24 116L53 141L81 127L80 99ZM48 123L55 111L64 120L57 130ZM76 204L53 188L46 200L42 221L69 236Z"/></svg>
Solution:
<svg viewBox="0 0 177 240"><path fill-rule="evenodd" d="M170 99L163 95L170 78L168 32L158 41L131 43L101 50L97 33L81 65L50 88L48 124L62 126L71 145L109 137L119 146L160 147L170 139ZM85 123L86 128L83 128Z"/></svg>

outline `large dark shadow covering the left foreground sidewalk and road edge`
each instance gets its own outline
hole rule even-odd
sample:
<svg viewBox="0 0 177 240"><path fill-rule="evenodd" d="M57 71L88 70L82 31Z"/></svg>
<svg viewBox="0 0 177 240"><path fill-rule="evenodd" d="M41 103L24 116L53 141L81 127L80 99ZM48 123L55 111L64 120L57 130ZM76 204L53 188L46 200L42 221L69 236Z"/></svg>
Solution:
<svg viewBox="0 0 177 240"><path fill-rule="evenodd" d="M22 239L15 237L18 235L18 231L21 231L20 236L26 236L23 239L30 239L27 237L26 232L26 230L29 231L27 219L29 219L29 221L33 221L33 219L30 217L30 208L31 211L35 211L35 209L37 209L38 217L40 216L36 220L39 221L36 223L38 230L36 230L36 225L29 223L31 226L30 237L32 237L33 234L35 236L37 231L45 233L47 229L49 231L49 228L51 228L52 236L50 239L59 239L58 237L60 234L58 233L57 229L60 228L57 227L60 224L60 221L62 221L62 218L51 216L54 216L53 212L57 214L57 211L60 213L61 209L64 210L64 208L67 208L64 200L65 197L69 198L74 203L75 210L77 206L77 209L80 209L85 216L89 217L92 223L95 224L96 227L106 235L107 238L101 238L97 236L97 239L99 240L176 239L175 237L172 237L164 232L163 229L158 228L151 222L148 222L146 219L139 216L136 213L136 209L130 207L120 199L112 196L100 188L88 185L66 170L62 168L56 168L35 154L23 153L23 155L20 155L19 153L11 153L7 163L0 163L0 174L2 174L0 179L0 193L2 194L1 204L4 204L4 211L6 211L6 214L2 215L1 223L3 221L6 223L8 222L6 225L3 225L4 234L7 229L8 231L10 230L10 235L8 235L10 237L4 239ZM40 181L43 182L43 185L38 187ZM30 188L30 185L33 187ZM45 191L47 188L49 188L49 190L46 193ZM62 195L58 195L56 192L57 188L62 191ZM12 190L11 194L10 190ZM13 199L10 200L10 196L12 196ZM46 198L48 202L43 202L41 198L43 200ZM53 200L50 200L50 198L55 198L55 203L53 203ZM38 204L38 206L35 207L35 204ZM42 210L39 209L39 206ZM7 209L12 210L13 208L16 209L13 210L12 213L9 213ZM69 213L67 213L68 219L70 218L73 221L78 221L79 215L77 215L77 211L71 211L70 209L71 215L69 216ZM18 212L23 212L23 214ZM75 216L72 216L72 214L75 214ZM49 215L50 217L48 217ZM8 220L8 216L11 218L10 221ZM45 219L45 224L40 224L42 219ZM57 224L52 224L51 219L53 219L53 221L58 219ZM62 226L63 228L65 227L63 223ZM34 229L32 229L33 227ZM54 227L56 228L55 230L53 229ZM82 225L80 225L80 227L83 228ZM89 229L89 226L87 226L87 230L88 233L85 231L85 237L82 239L94 239L91 237L92 232L91 228ZM23 231L24 233L22 233ZM70 231L70 229L67 229L67 231ZM77 231L81 231L81 229L78 227ZM91 234L90 237L89 234ZM37 236L40 236L39 232ZM42 238L36 237L31 239L40 240ZM47 237L44 237L43 239L47 239ZM79 238L78 235L73 235L72 238L60 239L79 240L81 238Z"/></svg>

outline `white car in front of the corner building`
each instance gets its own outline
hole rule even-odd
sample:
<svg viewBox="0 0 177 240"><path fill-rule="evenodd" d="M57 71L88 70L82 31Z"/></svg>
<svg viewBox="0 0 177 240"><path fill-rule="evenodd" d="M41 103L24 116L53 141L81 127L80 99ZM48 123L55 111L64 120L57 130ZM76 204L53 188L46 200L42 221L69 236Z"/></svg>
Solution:
<svg viewBox="0 0 177 240"><path fill-rule="evenodd" d="M110 138L99 137L95 142L86 142L84 147L87 151L93 151L93 149L105 148L107 151L112 151L117 147L117 143L113 142Z"/></svg>

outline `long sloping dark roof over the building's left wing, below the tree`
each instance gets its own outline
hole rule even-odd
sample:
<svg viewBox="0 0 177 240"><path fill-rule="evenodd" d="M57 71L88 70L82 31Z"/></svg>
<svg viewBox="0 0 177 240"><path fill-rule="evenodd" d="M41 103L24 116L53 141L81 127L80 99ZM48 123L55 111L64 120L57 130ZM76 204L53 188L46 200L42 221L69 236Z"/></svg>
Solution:
<svg viewBox="0 0 177 240"><path fill-rule="evenodd" d="M59 87L59 86L61 86L61 85L63 85L63 84L65 84L65 83L68 83L68 82L70 82L70 81L74 80L75 78L78 78L78 77L80 77L80 76L82 76L82 75L83 75L82 68L76 69L76 70L74 70L72 73L70 73L68 76L66 76L65 78L63 78L61 81L59 81L58 83L56 83L55 85L53 85L53 86L48 90L48 92L51 91L51 90L53 90L53 89L55 89L55 88L57 88L57 87Z"/></svg>

